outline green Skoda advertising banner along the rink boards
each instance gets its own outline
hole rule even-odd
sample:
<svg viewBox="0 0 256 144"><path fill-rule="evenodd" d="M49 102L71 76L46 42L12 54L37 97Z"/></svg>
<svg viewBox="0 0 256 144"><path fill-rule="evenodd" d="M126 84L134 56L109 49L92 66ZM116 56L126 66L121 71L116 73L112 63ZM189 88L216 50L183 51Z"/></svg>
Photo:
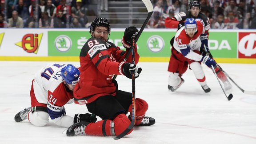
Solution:
<svg viewBox="0 0 256 144"><path fill-rule="evenodd" d="M171 56L170 40L176 32L143 32L137 41L141 57ZM236 58L237 32L210 32L209 49L215 58ZM111 32L109 41L124 49L124 32ZM91 37L88 31L49 31L48 56L79 56L80 50Z"/></svg>

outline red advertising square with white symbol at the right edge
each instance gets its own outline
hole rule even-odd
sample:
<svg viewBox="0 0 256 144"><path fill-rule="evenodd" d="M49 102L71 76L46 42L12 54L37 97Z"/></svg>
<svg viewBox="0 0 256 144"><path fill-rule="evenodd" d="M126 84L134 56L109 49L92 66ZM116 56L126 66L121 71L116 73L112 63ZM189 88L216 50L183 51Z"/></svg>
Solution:
<svg viewBox="0 0 256 144"><path fill-rule="evenodd" d="M238 58L256 58L256 33L239 32Z"/></svg>

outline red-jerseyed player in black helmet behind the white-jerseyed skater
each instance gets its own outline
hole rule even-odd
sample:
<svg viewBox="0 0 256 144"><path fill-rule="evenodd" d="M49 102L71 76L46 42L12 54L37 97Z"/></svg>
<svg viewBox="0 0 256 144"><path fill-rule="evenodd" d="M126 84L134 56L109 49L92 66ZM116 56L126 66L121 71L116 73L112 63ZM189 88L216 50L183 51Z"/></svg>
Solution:
<svg viewBox="0 0 256 144"><path fill-rule="evenodd" d="M184 26L184 21L187 18L194 18L194 19L200 18L204 23L204 32L200 35L200 40L201 40L200 52L202 53L202 55L205 55L207 52L209 56L213 59L212 54L210 53L208 48L208 35L209 35L208 31L210 29L210 21L207 16L205 16L203 13L200 12L201 5L198 0L191 0L189 3L189 8L190 9L187 10L186 12L180 12L171 18L167 17L165 19L165 27L180 29L182 26ZM172 43L173 43L173 39L171 40L171 45ZM215 71L217 73L217 76L224 83L225 90L231 90L232 85L230 84L230 82L228 81L228 78L224 75L224 73L220 71L218 67L215 67Z"/></svg>

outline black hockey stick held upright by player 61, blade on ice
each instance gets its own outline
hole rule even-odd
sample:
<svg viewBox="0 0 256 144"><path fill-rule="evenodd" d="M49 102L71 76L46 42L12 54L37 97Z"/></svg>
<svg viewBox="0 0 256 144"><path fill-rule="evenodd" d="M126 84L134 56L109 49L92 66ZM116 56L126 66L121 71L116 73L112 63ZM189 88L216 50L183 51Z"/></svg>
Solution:
<svg viewBox="0 0 256 144"><path fill-rule="evenodd" d="M132 36L132 63L135 64L135 53L134 53L134 46L135 46L135 36ZM135 72L132 73L132 121L131 124L122 132L120 135L116 136L114 140L119 140L120 138L124 137L130 130L133 128L135 124Z"/></svg>

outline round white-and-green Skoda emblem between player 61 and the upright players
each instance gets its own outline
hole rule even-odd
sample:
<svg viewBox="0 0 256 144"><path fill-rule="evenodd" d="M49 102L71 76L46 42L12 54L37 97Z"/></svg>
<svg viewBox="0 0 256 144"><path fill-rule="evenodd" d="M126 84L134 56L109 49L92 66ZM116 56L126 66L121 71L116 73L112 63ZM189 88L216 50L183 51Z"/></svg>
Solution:
<svg viewBox="0 0 256 144"><path fill-rule="evenodd" d="M152 52L160 52L164 48L164 40L161 36L151 36L147 44L148 49Z"/></svg>

